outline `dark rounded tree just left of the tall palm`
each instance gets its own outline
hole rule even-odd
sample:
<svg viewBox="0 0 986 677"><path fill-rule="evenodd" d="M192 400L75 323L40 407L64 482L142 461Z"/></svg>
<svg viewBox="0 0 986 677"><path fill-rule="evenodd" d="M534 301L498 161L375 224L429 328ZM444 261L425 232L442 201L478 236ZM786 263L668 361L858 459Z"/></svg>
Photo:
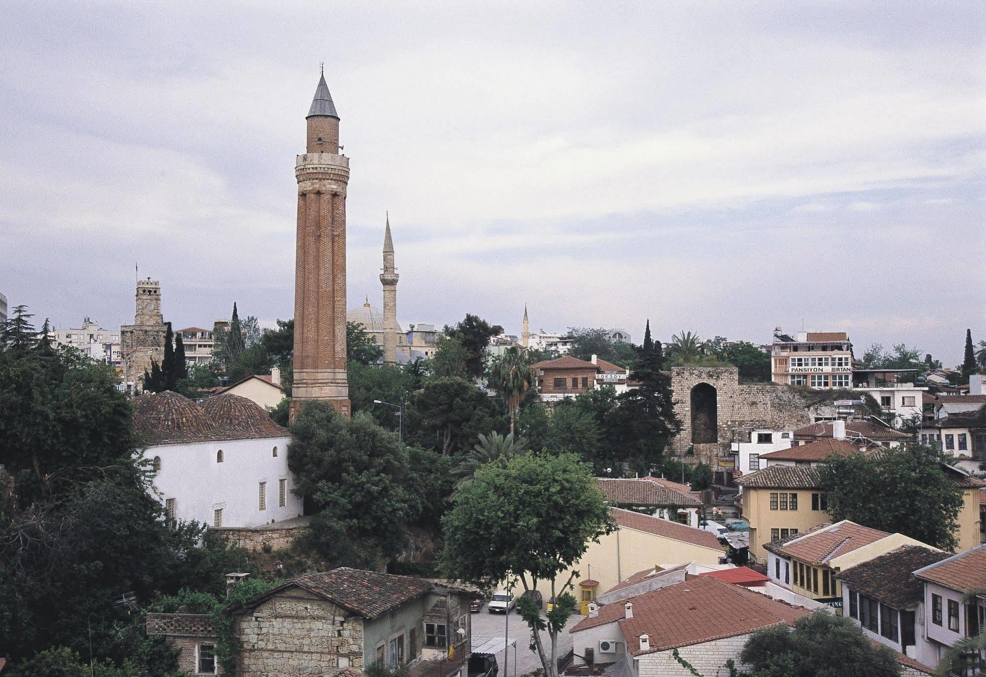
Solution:
<svg viewBox="0 0 986 677"><path fill-rule="evenodd" d="M485 392L463 378L431 378L411 396L407 430L422 446L449 456L479 441L479 434L505 432L506 416Z"/></svg>

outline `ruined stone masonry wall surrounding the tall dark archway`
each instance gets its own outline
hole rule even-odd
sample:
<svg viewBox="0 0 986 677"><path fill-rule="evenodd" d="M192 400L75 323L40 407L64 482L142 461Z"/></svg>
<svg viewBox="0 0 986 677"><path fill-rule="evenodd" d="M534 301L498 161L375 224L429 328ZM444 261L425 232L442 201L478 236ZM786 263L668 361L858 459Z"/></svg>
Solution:
<svg viewBox="0 0 986 677"><path fill-rule="evenodd" d="M675 455L692 443L692 388L707 383L716 389L719 441L696 444L695 456L690 457L695 463L715 466L716 457L729 451L734 428L753 426L790 430L811 422L806 403L790 386L740 384L740 372L736 367L673 367L670 374L674 412L681 420L681 432L671 444Z"/></svg>

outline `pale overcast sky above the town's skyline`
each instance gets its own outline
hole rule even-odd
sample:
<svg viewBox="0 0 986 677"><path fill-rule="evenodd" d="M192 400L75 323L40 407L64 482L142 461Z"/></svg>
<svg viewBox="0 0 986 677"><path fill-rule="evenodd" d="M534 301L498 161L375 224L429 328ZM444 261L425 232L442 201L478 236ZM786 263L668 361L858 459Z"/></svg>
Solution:
<svg viewBox="0 0 986 677"><path fill-rule="evenodd" d="M284 5L282 7L282 5ZM411 7L413 5L413 9ZM0 292L39 319L294 304L318 62L351 158L349 306L519 333L986 339L986 4L13 3Z"/></svg>

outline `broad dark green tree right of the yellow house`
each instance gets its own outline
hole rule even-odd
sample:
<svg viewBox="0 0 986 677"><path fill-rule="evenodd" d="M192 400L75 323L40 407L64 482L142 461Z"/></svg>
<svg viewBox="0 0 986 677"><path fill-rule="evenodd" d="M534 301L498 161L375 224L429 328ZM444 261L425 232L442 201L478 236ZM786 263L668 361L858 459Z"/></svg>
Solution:
<svg viewBox="0 0 986 677"><path fill-rule="evenodd" d="M934 449L911 444L881 450L879 456L833 455L818 474L833 520L899 532L943 550L957 545L953 534L962 490L943 470Z"/></svg>

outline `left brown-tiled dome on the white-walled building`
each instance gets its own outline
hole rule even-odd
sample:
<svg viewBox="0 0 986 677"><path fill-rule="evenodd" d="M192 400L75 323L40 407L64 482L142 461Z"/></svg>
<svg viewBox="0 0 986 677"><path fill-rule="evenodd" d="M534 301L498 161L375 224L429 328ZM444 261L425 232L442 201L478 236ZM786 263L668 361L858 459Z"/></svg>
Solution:
<svg viewBox="0 0 986 677"><path fill-rule="evenodd" d="M215 434L215 425L201 407L170 390L136 398L133 422L148 444L202 442Z"/></svg>

